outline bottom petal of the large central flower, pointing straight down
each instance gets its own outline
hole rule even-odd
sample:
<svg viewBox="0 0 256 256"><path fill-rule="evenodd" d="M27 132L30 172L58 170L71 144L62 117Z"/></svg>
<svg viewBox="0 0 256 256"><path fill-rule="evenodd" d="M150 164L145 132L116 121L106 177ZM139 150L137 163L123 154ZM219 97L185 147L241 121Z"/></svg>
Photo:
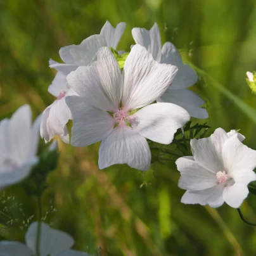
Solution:
<svg viewBox="0 0 256 256"><path fill-rule="evenodd" d="M148 170L150 161L150 147L146 139L127 125L118 125L99 147L99 169L127 163L132 168Z"/></svg>

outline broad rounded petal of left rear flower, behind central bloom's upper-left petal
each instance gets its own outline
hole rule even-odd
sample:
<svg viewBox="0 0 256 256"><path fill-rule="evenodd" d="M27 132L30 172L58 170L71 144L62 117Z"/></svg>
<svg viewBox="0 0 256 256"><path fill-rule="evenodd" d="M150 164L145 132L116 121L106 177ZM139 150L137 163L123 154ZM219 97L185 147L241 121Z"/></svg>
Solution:
<svg viewBox="0 0 256 256"><path fill-rule="evenodd" d="M72 44L60 49L60 58L67 64L87 66L93 60L98 49L106 46L106 40L102 35L91 35L79 45Z"/></svg>

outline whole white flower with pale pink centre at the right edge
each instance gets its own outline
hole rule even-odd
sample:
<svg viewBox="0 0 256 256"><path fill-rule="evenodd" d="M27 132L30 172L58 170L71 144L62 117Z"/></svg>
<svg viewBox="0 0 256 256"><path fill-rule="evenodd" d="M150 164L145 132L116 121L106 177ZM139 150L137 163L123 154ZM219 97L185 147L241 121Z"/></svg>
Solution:
<svg viewBox="0 0 256 256"><path fill-rule="evenodd" d="M193 157L176 161L181 172L179 187L186 189L182 203L219 207L224 202L240 207L248 195L247 185L256 180L256 151L241 141L236 131L218 128L209 138L192 139Z"/></svg>

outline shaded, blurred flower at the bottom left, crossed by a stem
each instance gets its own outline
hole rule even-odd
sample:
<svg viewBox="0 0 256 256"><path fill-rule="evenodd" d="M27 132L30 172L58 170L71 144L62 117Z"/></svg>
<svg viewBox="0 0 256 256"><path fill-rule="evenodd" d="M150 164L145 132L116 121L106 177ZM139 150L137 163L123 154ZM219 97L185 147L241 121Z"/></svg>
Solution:
<svg viewBox="0 0 256 256"><path fill-rule="evenodd" d="M0 241L0 255L3 256L34 256L36 253L38 222L30 225L25 235L26 245L18 241ZM63 231L52 229L41 222L39 241L40 256L89 256L87 253L70 250L74 239Z"/></svg>

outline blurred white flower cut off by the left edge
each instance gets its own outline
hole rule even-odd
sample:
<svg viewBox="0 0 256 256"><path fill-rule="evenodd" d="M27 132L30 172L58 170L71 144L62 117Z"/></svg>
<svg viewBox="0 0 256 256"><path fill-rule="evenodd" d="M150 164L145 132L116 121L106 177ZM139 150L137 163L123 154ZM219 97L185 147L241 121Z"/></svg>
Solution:
<svg viewBox="0 0 256 256"><path fill-rule="evenodd" d="M38 162L40 119L32 125L30 106L23 105L0 122L0 188L22 181Z"/></svg>

